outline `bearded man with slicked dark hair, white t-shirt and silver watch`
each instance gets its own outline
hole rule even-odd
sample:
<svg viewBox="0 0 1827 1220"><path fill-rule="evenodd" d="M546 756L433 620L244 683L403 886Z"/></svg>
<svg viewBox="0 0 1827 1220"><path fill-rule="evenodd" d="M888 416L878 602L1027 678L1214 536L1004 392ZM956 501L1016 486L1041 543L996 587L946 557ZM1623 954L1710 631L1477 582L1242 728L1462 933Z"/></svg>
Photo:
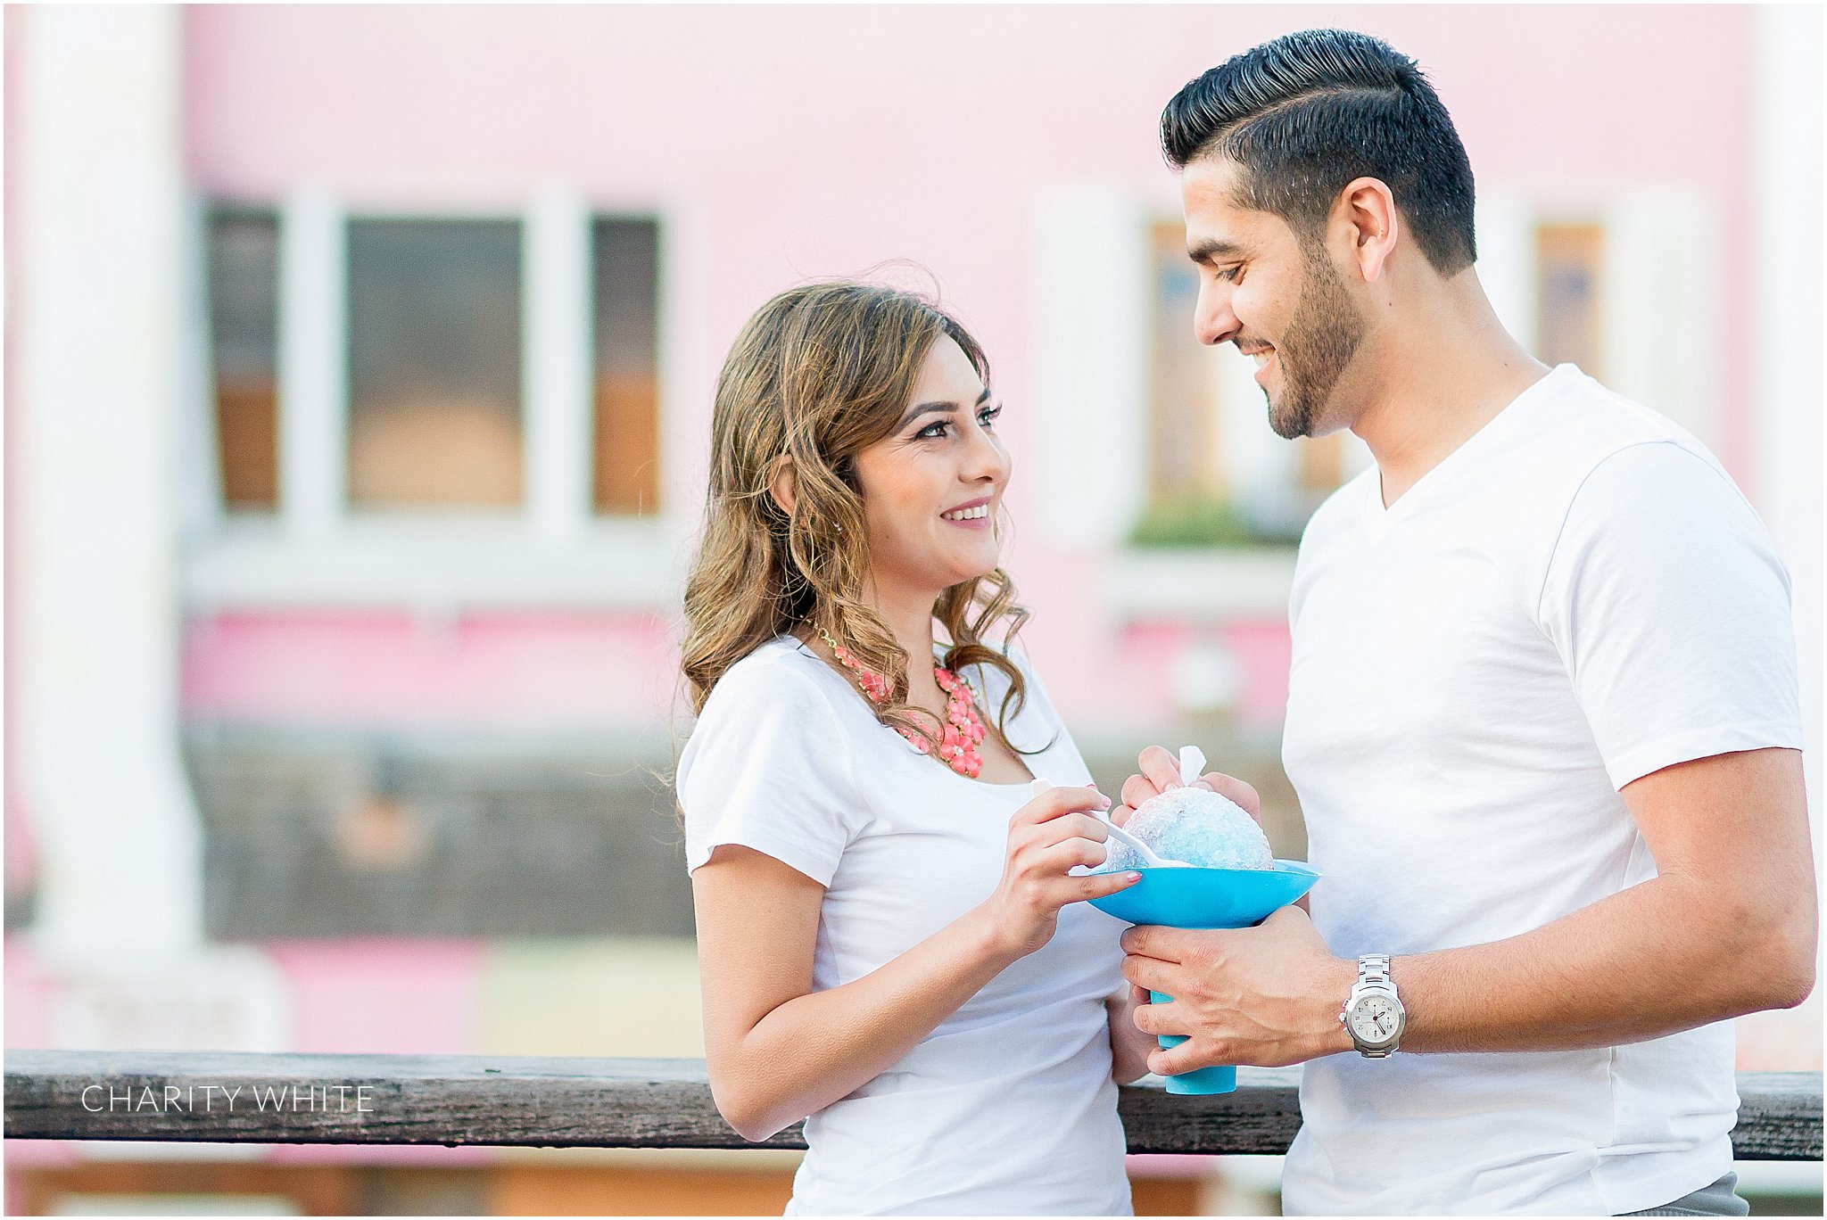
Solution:
<svg viewBox="0 0 1827 1220"><path fill-rule="evenodd" d="M1290 599L1312 917L1129 930L1124 973L1177 997L1136 1025L1188 1036L1149 1068L1306 1063L1290 1215L1743 1215L1728 1017L1798 1004L1816 939L1763 526L1694 436L1504 332L1412 60L1277 38L1162 141L1200 342L1255 356L1277 433L1376 466ZM1140 765L1131 809L1177 784Z"/></svg>

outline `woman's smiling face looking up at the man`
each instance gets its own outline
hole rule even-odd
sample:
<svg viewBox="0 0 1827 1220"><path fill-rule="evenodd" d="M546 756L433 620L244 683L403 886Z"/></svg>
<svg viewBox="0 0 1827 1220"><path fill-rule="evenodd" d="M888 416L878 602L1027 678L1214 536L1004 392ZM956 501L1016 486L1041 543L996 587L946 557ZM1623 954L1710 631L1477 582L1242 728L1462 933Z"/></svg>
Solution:
<svg viewBox="0 0 1827 1220"><path fill-rule="evenodd" d="M855 458L879 594L937 597L996 570L1010 473L998 415L965 351L941 334L895 431Z"/></svg>

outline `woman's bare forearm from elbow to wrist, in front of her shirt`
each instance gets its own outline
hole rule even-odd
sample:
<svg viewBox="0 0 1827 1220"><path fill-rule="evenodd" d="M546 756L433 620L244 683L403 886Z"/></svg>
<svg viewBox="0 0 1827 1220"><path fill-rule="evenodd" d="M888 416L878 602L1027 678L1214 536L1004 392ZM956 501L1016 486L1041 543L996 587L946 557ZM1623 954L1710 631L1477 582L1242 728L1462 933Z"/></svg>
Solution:
<svg viewBox="0 0 1827 1220"><path fill-rule="evenodd" d="M716 1065L723 1118L766 1140L850 1096L1018 957L985 904L853 983L786 1001Z"/></svg>

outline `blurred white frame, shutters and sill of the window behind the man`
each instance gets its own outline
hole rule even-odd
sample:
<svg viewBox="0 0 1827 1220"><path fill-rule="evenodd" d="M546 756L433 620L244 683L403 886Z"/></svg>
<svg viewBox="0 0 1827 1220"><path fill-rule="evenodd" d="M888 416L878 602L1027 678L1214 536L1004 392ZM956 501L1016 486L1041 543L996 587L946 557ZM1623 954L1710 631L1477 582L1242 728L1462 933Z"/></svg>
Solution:
<svg viewBox="0 0 1827 1220"><path fill-rule="evenodd" d="M1111 186L1061 186L1040 203L1034 363L1049 413L1040 451L1049 542L1107 557L1100 586L1120 625L1281 617L1294 584L1284 550L1124 542L1147 500L1147 226L1177 206L1158 192ZM1478 278L1509 332L1533 345L1535 225L1602 223L1606 384L1717 449L1723 369L1714 345L1692 340L1719 334L1723 321L1714 217L1712 203L1684 186L1599 194L1498 184L1480 190ZM1226 362L1220 378L1226 477L1248 493L1253 480L1284 475L1294 449L1242 427L1262 409L1248 362ZM1363 442L1346 446L1346 477L1368 464Z"/></svg>

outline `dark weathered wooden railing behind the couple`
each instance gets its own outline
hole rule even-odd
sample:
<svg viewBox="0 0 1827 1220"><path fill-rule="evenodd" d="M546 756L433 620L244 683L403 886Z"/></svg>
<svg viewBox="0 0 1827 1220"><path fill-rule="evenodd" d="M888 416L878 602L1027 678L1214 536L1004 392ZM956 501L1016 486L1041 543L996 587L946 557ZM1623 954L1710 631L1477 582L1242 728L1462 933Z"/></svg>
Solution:
<svg viewBox="0 0 1827 1220"><path fill-rule="evenodd" d="M1233 1094L1122 1090L1131 1152L1286 1152L1299 1068L1239 1068ZM1739 1072L1737 1160L1822 1160L1820 1072ZM9 1140L806 1147L749 1143L703 1059L7 1050Z"/></svg>

